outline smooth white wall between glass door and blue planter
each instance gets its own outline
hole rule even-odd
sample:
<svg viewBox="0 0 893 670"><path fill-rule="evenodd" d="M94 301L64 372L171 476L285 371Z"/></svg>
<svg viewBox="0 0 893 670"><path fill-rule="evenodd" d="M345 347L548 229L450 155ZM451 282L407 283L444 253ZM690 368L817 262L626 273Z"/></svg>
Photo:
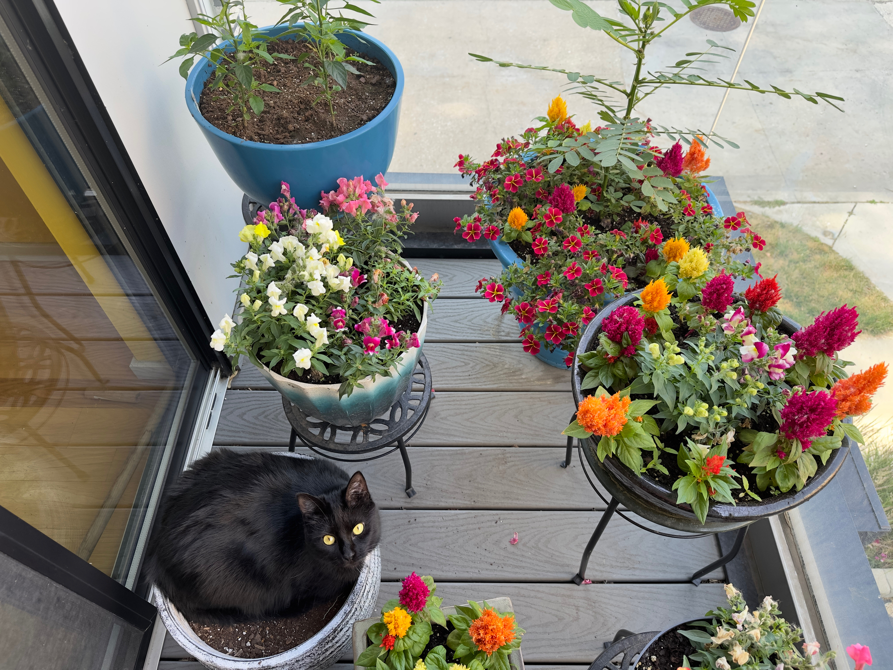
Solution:
<svg viewBox="0 0 893 670"><path fill-rule="evenodd" d="M176 51L193 30L185 0L55 0L139 178L213 323L230 312L244 253L242 193L184 101Z"/></svg>

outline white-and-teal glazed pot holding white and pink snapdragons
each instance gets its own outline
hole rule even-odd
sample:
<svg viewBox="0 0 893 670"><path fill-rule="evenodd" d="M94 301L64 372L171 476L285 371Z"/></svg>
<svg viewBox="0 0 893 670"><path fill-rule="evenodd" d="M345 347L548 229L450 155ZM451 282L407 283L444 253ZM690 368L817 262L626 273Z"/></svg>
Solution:
<svg viewBox="0 0 893 670"><path fill-rule="evenodd" d="M298 406L308 416L313 416L339 426L358 426L371 423L376 416L383 415L388 407L403 395L413 379L413 370L419 360L421 346L425 342L428 329L428 302L421 311L419 325L419 346L405 351L397 359L396 371L390 377L377 375L375 381L366 377L350 396L338 398L340 384L307 384L294 381L274 373L263 363L252 361L269 381L290 402Z"/></svg>

